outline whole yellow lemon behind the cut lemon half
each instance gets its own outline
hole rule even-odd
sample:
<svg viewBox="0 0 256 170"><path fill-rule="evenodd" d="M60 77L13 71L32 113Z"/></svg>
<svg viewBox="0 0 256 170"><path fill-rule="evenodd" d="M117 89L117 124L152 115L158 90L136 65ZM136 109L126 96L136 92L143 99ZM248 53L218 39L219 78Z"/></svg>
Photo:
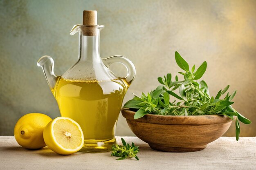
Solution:
<svg viewBox="0 0 256 170"><path fill-rule="evenodd" d="M43 139L45 126L52 118L41 113L29 113L20 117L14 127L14 137L18 144L27 149L40 149L46 146Z"/></svg>

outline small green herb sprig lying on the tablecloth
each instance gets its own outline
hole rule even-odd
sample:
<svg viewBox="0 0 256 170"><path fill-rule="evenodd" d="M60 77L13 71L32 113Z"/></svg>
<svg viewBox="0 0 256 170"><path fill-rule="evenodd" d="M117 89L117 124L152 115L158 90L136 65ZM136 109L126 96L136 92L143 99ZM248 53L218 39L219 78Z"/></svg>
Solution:
<svg viewBox="0 0 256 170"><path fill-rule="evenodd" d="M139 158L137 157L137 153L139 152L139 146L135 146L133 142L132 142L132 145L130 146L130 144L126 144L126 141L123 138L121 138L121 140L122 140L123 146L117 145L117 144L113 145L111 156L121 157L116 160L123 160L128 157L130 158L135 157L135 159L139 160Z"/></svg>

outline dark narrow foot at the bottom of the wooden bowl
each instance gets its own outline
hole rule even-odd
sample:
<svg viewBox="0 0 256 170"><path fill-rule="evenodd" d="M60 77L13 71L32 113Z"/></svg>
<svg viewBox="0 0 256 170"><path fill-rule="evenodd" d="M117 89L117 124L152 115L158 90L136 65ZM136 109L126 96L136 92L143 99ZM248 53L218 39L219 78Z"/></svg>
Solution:
<svg viewBox="0 0 256 170"><path fill-rule="evenodd" d="M154 150L159 150L163 152L195 152L195 151L200 151L206 148L207 145L203 146L195 146L195 147L190 147L190 148L182 148L182 147L168 147L168 146L157 146L154 144L149 144L150 148Z"/></svg>

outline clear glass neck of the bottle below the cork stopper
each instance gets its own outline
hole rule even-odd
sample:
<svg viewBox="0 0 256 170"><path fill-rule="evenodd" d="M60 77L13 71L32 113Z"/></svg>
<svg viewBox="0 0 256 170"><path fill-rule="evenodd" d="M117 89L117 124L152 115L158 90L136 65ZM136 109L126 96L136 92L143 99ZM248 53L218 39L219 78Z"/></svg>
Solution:
<svg viewBox="0 0 256 170"><path fill-rule="evenodd" d="M82 31L79 32L79 60L87 62L100 60L99 33L99 29L95 30L93 36L85 35Z"/></svg>

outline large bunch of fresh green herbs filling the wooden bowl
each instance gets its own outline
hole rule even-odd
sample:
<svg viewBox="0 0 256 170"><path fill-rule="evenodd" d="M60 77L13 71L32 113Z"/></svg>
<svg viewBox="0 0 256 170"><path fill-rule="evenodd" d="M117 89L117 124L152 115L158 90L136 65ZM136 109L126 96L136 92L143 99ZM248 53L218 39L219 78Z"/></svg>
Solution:
<svg viewBox="0 0 256 170"><path fill-rule="evenodd" d="M164 77L158 77L161 84L155 90L145 95L135 97L124 104L124 108L135 110L134 119L139 119L146 114L154 115L225 115L230 119L236 119L236 140L239 139L240 125L239 121L244 124L250 124L251 121L245 118L232 108L231 100L236 95L227 92L229 85L213 97L209 93L207 83L204 80L198 82L207 68L207 62L203 62L195 71L195 65L189 69L189 64L175 52L175 60L177 65L183 70L178 72L183 75L183 80L178 80L177 75L172 81L171 73ZM179 95L174 91L177 90ZM170 95L177 99L170 102ZM222 99L220 99L222 97ZM239 121L238 121L239 120Z"/></svg>

